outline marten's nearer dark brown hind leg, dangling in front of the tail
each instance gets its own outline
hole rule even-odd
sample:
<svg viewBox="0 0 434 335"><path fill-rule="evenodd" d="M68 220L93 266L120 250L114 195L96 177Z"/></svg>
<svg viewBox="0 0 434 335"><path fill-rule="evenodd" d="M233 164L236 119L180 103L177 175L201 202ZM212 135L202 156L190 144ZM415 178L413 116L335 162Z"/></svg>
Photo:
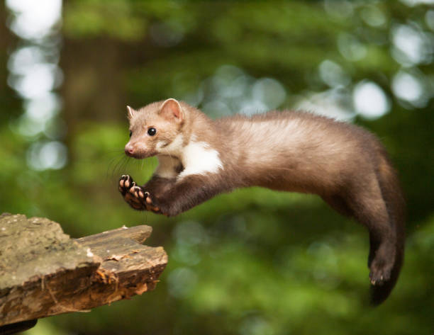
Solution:
<svg viewBox="0 0 434 335"><path fill-rule="evenodd" d="M382 285L391 278L396 259L396 234L389 220L377 179L352 193L348 205L357 221L369 230L369 278Z"/></svg>

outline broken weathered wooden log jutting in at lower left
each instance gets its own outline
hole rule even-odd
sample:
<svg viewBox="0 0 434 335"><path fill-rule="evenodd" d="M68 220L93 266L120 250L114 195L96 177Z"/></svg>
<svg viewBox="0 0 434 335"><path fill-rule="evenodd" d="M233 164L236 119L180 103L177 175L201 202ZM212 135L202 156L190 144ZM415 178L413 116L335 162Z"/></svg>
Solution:
<svg viewBox="0 0 434 335"><path fill-rule="evenodd" d="M83 312L153 290L167 264L149 226L71 239L59 224L0 216L0 326Z"/></svg>

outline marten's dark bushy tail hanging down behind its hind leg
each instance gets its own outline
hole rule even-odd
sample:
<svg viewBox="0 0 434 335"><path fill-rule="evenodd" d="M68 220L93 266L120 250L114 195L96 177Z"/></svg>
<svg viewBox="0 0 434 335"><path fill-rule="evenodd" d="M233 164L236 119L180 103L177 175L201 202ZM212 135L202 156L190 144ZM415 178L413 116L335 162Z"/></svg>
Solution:
<svg viewBox="0 0 434 335"><path fill-rule="evenodd" d="M377 179L381 189L382 197L389 215L389 222L395 235L395 260L391 269L391 276L382 285L372 285L371 302L372 305L379 305L390 295L391 290L398 280L401 266L404 262L404 243L405 243L405 200L399 185L396 171L391 166L386 150L380 149L379 165L377 166ZM372 243L372 241L371 241ZM371 246L372 247L372 246ZM372 261L374 254L369 255L369 262Z"/></svg>

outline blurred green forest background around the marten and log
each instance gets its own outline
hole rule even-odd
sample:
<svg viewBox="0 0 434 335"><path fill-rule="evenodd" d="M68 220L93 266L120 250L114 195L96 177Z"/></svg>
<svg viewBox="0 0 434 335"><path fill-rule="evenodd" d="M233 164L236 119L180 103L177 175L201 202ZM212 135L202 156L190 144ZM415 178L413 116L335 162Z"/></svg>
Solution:
<svg viewBox="0 0 434 335"><path fill-rule="evenodd" d="M6 0L0 17L0 212L72 237L147 224L169 254L156 290L26 334L433 334L433 1ZM384 305L367 306L367 232L316 196L250 188L171 219L123 203L118 177L157 165L123 154L126 105L169 97L376 133L408 200Z"/></svg>

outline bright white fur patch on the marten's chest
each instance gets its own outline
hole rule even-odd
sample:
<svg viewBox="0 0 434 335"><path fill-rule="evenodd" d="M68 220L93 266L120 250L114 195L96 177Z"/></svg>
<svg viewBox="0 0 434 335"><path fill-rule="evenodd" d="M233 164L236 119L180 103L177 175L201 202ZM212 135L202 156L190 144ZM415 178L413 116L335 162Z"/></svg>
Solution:
<svg viewBox="0 0 434 335"><path fill-rule="evenodd" d="M206 142L190 142L182 153L184 171L179 178L192 174L216 174L223 169L218 151L212 149Z"/></svg>

